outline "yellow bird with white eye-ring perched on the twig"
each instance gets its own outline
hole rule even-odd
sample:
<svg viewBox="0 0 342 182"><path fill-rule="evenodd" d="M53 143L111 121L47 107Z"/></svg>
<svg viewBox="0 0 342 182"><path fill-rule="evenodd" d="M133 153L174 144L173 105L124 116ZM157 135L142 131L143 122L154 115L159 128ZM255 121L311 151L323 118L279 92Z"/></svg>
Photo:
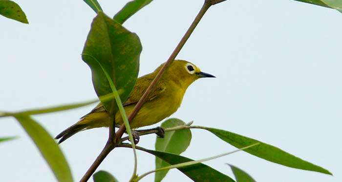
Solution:
<svg viewBox="0 0 342 182"><path fill-rule="evenodd" d="M127 115L132 112L134 106L163 65L160 65L152 73L137 79L128 99L123 103ZM145 104L130 122L131 128L149 126L169 117L180 107L187 88L198 78L204 77L215 76L202 72L198 67L188 61L174 60L164 72L155 89L150 92ZM81 117L76 124L60 133L56 139L61 138L59 140L59 143L61 143L82 130L108 127L109 121L110 116L103 104L100 103L90 113ZM120 112L115 114L115 122L117 125L123 123Z"/></svg>

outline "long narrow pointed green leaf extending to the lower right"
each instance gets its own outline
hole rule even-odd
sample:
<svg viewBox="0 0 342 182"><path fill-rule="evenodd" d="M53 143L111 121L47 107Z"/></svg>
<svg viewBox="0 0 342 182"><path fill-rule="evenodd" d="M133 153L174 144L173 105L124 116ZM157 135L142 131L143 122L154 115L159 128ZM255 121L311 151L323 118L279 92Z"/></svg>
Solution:
<svg viewBox="0 0 342 182"><path fill-rule="evenodd" d="M332 175L328 170L318 165L312 164L308 161L305 161L303 159L299 159L298 157L293 156L275 146L263 143L261 141L258 141L249 137L244 137L244 136L232 133L232 132L220 130L220 129L207 128L207 127L201 127L201 128L210 131L217 137L235 146L236 148L242 148L242 147L251 145L253 143L260 142L259 145L244 150L245 152L248 152L256 157L266 159L268 161L285 165L288 167L293 167L293 168L303 169L303 170L308 170L308 171L316 171L316 172Z"/></svg>

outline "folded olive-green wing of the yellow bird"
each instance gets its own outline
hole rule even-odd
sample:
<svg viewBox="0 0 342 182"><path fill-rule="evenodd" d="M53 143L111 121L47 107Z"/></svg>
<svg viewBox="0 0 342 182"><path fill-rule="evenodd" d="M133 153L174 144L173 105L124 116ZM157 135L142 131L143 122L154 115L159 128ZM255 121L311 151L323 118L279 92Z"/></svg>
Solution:
<svg viewBox="0 0 342 182"><path fill-rule="evenodd" d="M136 104L139 99L143 96L143 94L145 93L146 89L149 87L150 83L152 82L153 78L149 77L150 75L145 75L143 77L140 77L137 79L137 82L132 90L132 92L130 92L127 100L123 103L124 106L128 106L131 104ZM162 93L163 91L165 91L166 86L164 83L159 82L156 86L156 88L150 92L148 99L147 100L153 100L154 98L158 97L158 95L160 93ZM98 113L98 112L104 112L106 111L103 104L100 102L91 112L89 112L88 114L91 113ZM83 117L87 116L88 114L85 114Z"/></svg>

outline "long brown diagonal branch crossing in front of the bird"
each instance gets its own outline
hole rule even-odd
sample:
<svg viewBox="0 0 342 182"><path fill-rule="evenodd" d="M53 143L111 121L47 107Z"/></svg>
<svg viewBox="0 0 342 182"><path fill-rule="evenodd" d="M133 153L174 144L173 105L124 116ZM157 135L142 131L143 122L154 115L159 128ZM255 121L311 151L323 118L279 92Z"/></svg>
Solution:
<svg viewBox="0 0 342 182"><path fill-rule="evenodd" d="M202 19L203 15L205 14L205 12L209 9L210 6L222 2L225 0L205 0L204 4L201 8L201 10L198 12L196 18L193 20L192 24L190 25L190 27L188 28L187 32L184 34L184 36L182 37L182 39L180 40L180 42L178 43L178 45L175 47L175 49L173 50L173 52L171 53L169 59L166 61L166 63L164 64L164 66L160 69L160 71L158 72L158 74L155 76L155 78L153 79L153 81L151 82L150 86L147 88L147 90L145 91L145 93L143 94L143 96L140 98L139 102L135 105L133 111L128 115L128 121L130 122L134 116L138 113L139 109L142 107L142 105L145 103L147 97L149 96L150 92L155 88L155 86L157 85L157 83L159 82L160 78L162 77L163 73L165 72L165 70L171 65L172 61L176 58L176 56L178 55L179 51L182 49L182 47L185 45L185 43L187 42L187 40L189 39L190 35L192 34L193 30L195 29L195 27L197 26L197 24L200 22L200 20ZM89 178L91 177L91 175L95 172L95 170L99 167L99 165L101 164L101 162L107 157L107 155L110 153L110 151L112 151L115 147L118 146L118 144L121 141L124 141L123 139L126 140L125 138L121 138L122 135L124 134L126 130L125 124L122 124L119 128L119 130L115 133L114 131L114 122L111 123L111 126L109 126L109 136L108 136L108 140L107 143L104 147L104 149L101 151L100 155L95 159L95 161L92 163L92 165L89 167L89 169L87 170L87 172L85 173L85 175L82 177L82 179L80 180L80 182L86 182L89 180ZM155 131L157 132L157 131ZM150 133L145 133L144 135L147 135ZM137 149L140 149L139 147L137 147ZM141 149L140 149L141 150Z"/></svg>

